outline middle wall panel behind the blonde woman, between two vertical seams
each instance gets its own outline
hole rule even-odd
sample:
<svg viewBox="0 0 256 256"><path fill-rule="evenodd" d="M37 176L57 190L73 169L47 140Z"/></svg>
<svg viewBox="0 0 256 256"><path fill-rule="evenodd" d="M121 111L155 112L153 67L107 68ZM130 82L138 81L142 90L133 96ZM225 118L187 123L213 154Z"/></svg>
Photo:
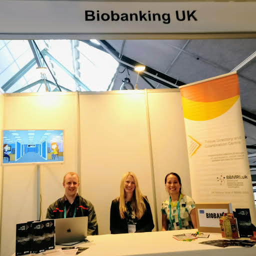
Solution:
<svg viewBox="0 0 256 256"><path fill-rule="evenodd" d="M111 200L133 171L153 212L143 91L80 95L81 193L95 207L99 233L110 233Z"/></svg>

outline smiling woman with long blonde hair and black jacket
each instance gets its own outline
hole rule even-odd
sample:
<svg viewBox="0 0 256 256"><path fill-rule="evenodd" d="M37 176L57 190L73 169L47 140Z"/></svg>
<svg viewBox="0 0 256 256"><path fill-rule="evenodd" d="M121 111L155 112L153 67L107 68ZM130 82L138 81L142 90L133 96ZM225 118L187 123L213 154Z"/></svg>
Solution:
<svg viewBox="0 0 256 256"><path fill-rule="evenodd" d="M124 173L120 183L120 196L111 203L111 233L150 232L153 227L150 205L139 190L137 177L130 171Z"/></svg>

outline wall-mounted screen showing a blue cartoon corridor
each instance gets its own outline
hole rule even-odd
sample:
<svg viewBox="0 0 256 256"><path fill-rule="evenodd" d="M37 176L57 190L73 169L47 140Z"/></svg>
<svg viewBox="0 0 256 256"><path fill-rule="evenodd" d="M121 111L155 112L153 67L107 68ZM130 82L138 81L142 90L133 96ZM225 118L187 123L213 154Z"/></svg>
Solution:
<svg viewBox="0 0 256 256"><path fill-rule="evenodd" d="M3 130L2 163L62 162L63 130Z"/></svg>

